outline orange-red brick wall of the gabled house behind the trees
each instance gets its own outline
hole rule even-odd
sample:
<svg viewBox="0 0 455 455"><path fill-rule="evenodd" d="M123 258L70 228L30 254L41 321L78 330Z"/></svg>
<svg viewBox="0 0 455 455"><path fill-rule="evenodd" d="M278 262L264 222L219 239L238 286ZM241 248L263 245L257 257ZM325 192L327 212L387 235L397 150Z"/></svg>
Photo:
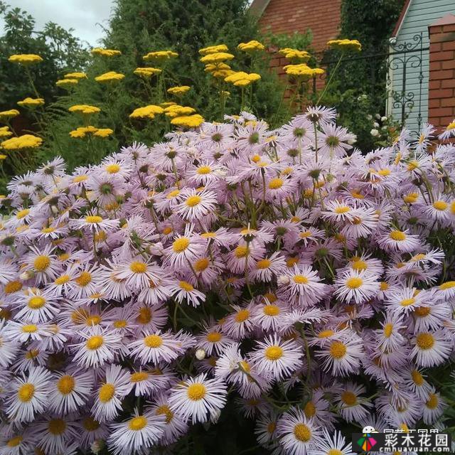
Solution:
<svg viewBox="0 0 455 455"><path fill-rule="evenodd" d="M270 0L259 25L274 33L313 32L312 47L325 48L336 38L341 20L341 0Z"/></svg>

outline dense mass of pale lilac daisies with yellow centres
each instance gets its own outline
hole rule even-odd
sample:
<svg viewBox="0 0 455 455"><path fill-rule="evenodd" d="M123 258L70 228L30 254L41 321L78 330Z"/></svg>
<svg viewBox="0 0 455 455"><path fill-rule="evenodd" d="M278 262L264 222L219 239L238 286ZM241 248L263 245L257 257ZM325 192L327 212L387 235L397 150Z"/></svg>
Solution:
<svg viewBox="0 0 455 455"><path fill-rule="evenodd" d="M273 454L351 455L367 425L444 427L455 146L426 126L362 155L335 118L198 119L9 183L1 453L176 453L227 402Z"/></svg>

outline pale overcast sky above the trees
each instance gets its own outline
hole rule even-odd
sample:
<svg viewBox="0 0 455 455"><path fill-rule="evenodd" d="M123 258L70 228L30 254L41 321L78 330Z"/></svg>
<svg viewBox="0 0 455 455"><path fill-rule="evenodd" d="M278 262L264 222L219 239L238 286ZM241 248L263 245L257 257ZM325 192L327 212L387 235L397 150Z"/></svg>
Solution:
<svg viewBox="0 0 455 455"><path fill-rule="evenodd" d="M107 26L112 0L6 0L6 3L25 9L36 20L36 29L52 21L63 28L74 28L74 34L90 45L102 38L102 27ZM0 29L4 21L0 18Z"/></svg>

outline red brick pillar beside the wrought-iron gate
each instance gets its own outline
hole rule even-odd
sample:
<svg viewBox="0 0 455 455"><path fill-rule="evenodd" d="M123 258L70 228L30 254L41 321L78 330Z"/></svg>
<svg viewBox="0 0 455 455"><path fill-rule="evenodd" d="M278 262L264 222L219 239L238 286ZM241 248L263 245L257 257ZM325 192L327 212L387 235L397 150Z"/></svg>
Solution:
<svg viewBox="0 0 455 455"><path fill-rule="evenodd" d="M428 122L439 129L455 118L455 16L429 26Z"/></svg>

